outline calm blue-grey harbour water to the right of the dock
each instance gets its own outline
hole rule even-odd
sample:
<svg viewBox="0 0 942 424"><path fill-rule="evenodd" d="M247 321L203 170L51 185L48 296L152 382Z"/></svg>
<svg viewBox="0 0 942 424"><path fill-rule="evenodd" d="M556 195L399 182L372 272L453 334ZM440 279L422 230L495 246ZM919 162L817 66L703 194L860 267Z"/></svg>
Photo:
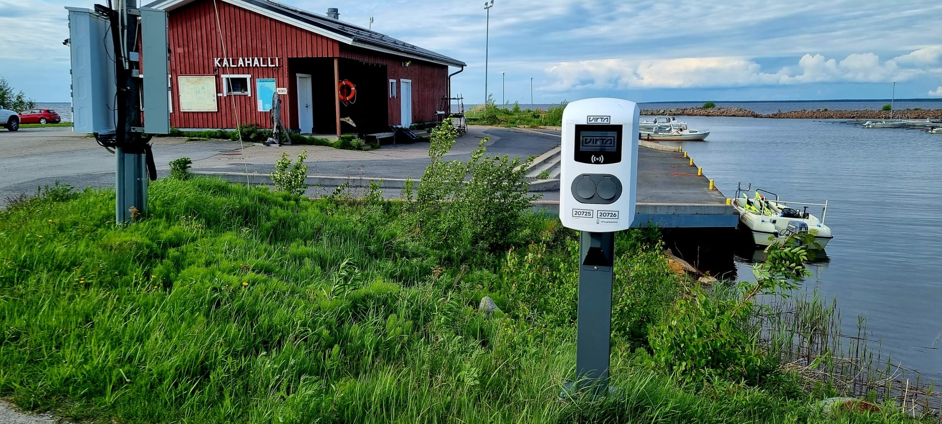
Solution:
<svg viewBox="0 0 942 424"><path fill-rule="evenodd" d="M680 120L712 131L684 148L724 195L741 181L783 200L830 200L830 260L812 264L805 289L836 297L845 334L864 315L885 353L942 382L942 134L811 119ZM738 258L740 278L752 277L751 260Z"/></svg>

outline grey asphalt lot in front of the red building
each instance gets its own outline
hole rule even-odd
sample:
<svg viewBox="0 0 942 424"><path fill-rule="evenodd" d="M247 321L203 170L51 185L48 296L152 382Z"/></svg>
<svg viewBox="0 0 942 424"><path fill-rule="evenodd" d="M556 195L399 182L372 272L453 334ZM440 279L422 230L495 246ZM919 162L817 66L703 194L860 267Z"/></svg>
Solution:
<svg viewBox="0 0 942 424"><path fill-rule="evenodd" d="M472 127L459 138L447 160L466 160L482 137L490 137L489 154L536 156L559 145L559 133ZM166 176L169 162L193 160L194 170L268 173L282 152L297 156L308 150L309 175L420 178L429 165L427 143L385 145L371 151L340 150L321 146L268 148L228 140L187 141L154 138L158 177ZM78 188L114 185L114 156L95 140L71 128L29 128L11 133L0 130L0 205L8 197L32 195L37 187L56 181Z"/></svg>

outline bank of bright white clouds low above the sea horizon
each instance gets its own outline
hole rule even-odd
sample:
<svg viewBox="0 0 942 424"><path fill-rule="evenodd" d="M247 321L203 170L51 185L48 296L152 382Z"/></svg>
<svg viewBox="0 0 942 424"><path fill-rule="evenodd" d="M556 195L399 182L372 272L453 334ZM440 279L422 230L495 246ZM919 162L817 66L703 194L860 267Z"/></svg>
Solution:
<svg viewBox="0 0 942 424"><path fill-rule="evenodd" d="M546 68L546 73L555 81L544 88L566 91L573 88L679 88L902 82L933 71L928 65L934 63L930 59L934 57L932 52L936 50L942 51L942 46L919 49L885 61L881 61L880 56L872 53L847 55L841 60L827 58L824 55L806 54L798 60L797 66L771 71L763 70L754 59L742 56L567 61Z"/></svg>

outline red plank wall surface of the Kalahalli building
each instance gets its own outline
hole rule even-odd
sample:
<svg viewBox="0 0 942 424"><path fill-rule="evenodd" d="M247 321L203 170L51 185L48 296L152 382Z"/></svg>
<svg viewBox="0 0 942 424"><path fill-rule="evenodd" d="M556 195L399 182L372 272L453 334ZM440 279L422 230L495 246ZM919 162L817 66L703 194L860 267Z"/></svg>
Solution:
<svg viewBox="0 0 942 424"><path fill-rule="evenodd" d="M217 21L217 13L219 20ZM220 29L221 39L220 43ZM445 65L417 61L398 55L374 52L340 44L291 24L268 18L224 1L201 0L170 14L171 125L176 128L234 128L254 122L268 127L268 112L258 111L255 80L274 78L276 86L287 87L282 97L285 124L297 128L297 84L288 69L291 57L346 57L386 65L387 79L413 81L413 122L435 120L440 99L447 95ZM216 68L215 57L278 57L276 68ZM412 60L409 67L402 66ZM223 92L221 75L251 74L251 94L217 97L218 112L182 112L178 91L181 75L216 76L217 93ZM387 84L388 86L388 84ZM397 90L398 90L397 84ZM389 123L398 124L399 97L389 98Z"/></svg>

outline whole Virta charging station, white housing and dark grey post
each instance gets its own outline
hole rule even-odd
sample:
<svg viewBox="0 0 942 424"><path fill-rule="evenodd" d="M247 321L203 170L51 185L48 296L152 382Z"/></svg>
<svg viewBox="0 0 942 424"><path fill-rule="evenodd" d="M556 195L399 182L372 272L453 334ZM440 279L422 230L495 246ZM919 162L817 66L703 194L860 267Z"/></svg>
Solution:
<svg viewBox="0 0 942 424"><path fill-rule="evenodd" d="M562 112L560 220L580 231L577 382L562 395L608 390L615 231L635 218L639 116L635 102L610 98Z"/></svg>

